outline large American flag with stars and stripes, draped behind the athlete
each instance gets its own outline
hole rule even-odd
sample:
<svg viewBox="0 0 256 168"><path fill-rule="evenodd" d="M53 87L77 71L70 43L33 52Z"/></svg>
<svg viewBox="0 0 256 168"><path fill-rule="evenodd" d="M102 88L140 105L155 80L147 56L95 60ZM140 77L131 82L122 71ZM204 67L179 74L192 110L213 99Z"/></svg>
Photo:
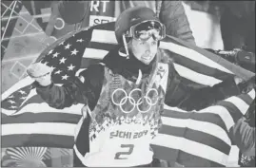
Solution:
<svg viewBox="0 0 256 168"><path fill-rule="evenodd" d="M71 32L44 51L37 61L54 68L54 83L65 84L116 46L113 26L114 23L108 23ZM160 47L173 58L175 68L187 84L218 84L234 76L233 72L246 79L254 75L171 36ZM72 148L83 104L62 110L51 108L36 94L32 83L26 77L2 95L2 147ZM226 166L231 147L228 131L246 113L254 97L255 91L251 90L189 113L166 106L163 127L151 145L155 158L185 166Z"/></svg>

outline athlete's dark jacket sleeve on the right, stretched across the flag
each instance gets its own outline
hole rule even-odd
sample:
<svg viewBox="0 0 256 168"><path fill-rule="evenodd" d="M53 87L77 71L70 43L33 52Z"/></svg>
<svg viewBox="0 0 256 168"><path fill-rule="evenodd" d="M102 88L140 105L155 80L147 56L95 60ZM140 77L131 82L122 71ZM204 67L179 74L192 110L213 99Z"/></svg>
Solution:
<svg viewBox="0 0 256 168"><path fill-rule="evenodd" d="M169 106L176 106L187 111L200 110L239 93L240 88L235 84L233 77L213 86L196 87L183 83L174 65L169 65L165 102Z"/></svg>

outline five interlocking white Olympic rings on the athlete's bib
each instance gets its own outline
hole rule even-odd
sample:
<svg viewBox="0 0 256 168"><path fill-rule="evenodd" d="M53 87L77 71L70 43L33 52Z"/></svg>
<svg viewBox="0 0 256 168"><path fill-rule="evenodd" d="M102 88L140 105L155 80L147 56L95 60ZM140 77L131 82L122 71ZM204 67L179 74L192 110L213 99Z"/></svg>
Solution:
<svg viewBox="0 0 256 168"><path fill-rule="evenodd" d="M158 91L155 88L150 88L148 90L147 94L143 98L142 97L139 98L137 100L137 102L135 101L134 98L131 97L132 93L135 92L135 91L138 91L138 92L140 92L142 94L142 90L139 89L139 88L134 88L133 90L131 90L129 92L129 94L123 88L117 88L116 90L113 91L113 93L111 95L112 103L114 103L115 105L119 106L122 112L128 114L128 113L132 112L136 107L137 107L137 110L140 113L147 113L151 109L151 107L158 102L158 99L159 99L158 96L159 95L158 95ZM117 92L121 92L121 93L125 94L125 96L120 100L120 102L115 102L114 101L114 96L117 96L117 94L118 94ZM155 95L156 95L156 98L157 98L155 101L153 101L150 97L148 97L149 93L152 93L152 92L156 93L156 94L153 94L154 95L153 97L155 97ZM148 109L144 110L144 111L141 110L140 107L139 107L143 103L143 99L146 100L146 102L148 103L148 106L149 106ZM130 103L132 105L132 108L130 110L128 110L128 111L124 110L124 108L123 108L123 105L126 104L126 103Z"/></svg>

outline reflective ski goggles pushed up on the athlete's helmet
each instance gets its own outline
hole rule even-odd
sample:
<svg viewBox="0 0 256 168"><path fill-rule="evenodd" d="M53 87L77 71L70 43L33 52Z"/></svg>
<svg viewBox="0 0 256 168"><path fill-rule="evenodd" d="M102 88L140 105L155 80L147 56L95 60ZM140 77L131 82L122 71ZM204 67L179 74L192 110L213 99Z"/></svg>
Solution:
<svg viewBox="0 0 256 168"><path fill-rule="evenodd" d="M150 37L158 41L166 37L166 27L158 21L145 21L130 27L127 35L141 41Z"/></svg>

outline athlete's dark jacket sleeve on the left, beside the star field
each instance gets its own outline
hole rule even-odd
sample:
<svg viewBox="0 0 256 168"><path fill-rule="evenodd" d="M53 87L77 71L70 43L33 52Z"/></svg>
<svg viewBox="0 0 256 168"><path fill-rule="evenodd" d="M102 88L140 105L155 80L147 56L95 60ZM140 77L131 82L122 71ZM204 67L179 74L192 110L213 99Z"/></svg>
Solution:
<svg viewBox="0 0 256 168"><path fill-rule="evenodd" d="M92 109L101 91L103 75L103 65L91 65L80 72L79 77L73 77L68 84L59 86L51 83L49 86L41 86L35 82L33 85L51 107L63 109L76 103L88 103Z"/></svg>

